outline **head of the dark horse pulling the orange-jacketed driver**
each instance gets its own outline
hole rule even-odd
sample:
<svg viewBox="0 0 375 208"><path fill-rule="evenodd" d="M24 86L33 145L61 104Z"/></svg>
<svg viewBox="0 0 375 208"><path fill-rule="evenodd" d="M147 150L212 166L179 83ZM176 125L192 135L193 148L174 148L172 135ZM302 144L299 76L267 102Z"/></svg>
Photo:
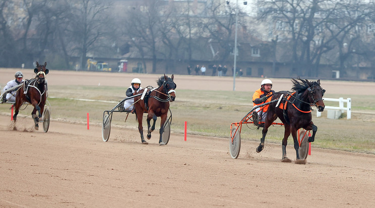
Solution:
<svg viewBox="0 0 375 208"><path fill-rule="evenodd" d="M326 90L320 86L320 79L318 79L318 81L312 82L309 82L307 79L305 79L305 81L306 84L309 86L307 90L309 94L310 103L315 105L319 112L324 111L325 105L323 102L323 95L324 92L326 92Z"/></svg>

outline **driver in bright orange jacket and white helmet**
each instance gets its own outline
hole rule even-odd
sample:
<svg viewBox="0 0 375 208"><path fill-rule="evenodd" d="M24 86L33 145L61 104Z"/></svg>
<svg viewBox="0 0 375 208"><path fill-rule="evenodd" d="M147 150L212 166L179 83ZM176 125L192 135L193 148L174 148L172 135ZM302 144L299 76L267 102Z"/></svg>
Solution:
<svg viewBox="0 0 375 208"><path fill-rule="evenodd" d="M269 96L269 95L271 95L272 93L275 93L275 91L272 90L271 88L272 88L272 81L270 79L264 79L261 83L261 88L259 88L253 94L254 106L263 104L266 101L271 101L271 96ZM260 108L257 108L253 112L253 116L252 116L252 118L254 119L254 125L256 125L256 126L258 126L259 118L261 118L261 122L265 121L268 106L265 106L261 111L259 111L259 110L260 110ZM258 114L257 114L257 112L258 112Z"/></svg>

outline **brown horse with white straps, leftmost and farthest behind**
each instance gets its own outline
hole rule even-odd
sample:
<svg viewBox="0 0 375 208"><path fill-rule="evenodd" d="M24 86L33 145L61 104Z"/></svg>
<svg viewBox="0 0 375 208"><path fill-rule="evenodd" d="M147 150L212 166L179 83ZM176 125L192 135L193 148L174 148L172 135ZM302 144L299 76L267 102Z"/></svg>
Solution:
<svg viewBox="0 0 375 208"><path fill-rule="evenodd" d="M36 68L34 69L34 73L36 74L35 78L23 82L23 85L17 92L16 102L13 105L15 108L13 120L15 122L17 121L19 109L24 102L29 102L33 105L34 110L31 116L35 123L35 130L39 129L39 118L42 117L45 100L47 99L45 75L48 74L49 70L45 68L46 65L47 62L44 62L43 65L36 62ZM38 111L38 115L36 115L36 111Z"/></svg>

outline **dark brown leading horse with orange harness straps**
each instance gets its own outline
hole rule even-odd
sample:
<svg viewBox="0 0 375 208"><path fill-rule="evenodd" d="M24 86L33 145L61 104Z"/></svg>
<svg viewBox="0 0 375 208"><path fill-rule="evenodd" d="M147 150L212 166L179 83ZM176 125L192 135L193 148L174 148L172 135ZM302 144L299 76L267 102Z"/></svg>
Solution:
<svg viewBox="0 0 375 208"><path fill-rule="evenodd" d="M257 152L259 153L263 150L268 128L279 118L284 124L282 162L291 162L291 160L286 157L286 145L289 135L292 134L294 149L296 151L296 163L298 163L298 161L302 161L303 163L298 153L299 144L297 140L297 130L300 128L307 131L313 130L313 135L308 138L308 142L314 142L318 127L311 121L311 106L316 106L319 112L324 111L323 95L326 90L320 86L320 79L310 82L307 79L303 80L298 77L297 79L291 79L291 81L293 82L292 90L295 91L294 93L290 91L280 91L271 95L271 100L280 98L282 94L286 96L282 97L282 104L280 106L277 106L276 102L269 104L264 128L262 130L261 143L257 148Z"/></svg>

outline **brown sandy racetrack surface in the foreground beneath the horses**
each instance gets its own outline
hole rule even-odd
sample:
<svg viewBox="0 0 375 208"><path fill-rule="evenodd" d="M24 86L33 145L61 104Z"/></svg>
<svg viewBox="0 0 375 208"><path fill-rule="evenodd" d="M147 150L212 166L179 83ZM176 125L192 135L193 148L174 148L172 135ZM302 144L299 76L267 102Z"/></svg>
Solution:
<svg viewBox="0 0 375 208"><path fill-rule="evenodd" d="M154 82L155 75L150 77ZM159 146L155 131L150 144L142 145L134 129L112 127L103 142L101 126L87 130L52 120L47 133L32 127L31 118L18 118L14 127L9 116L0 116L0 207L375 204L374 155L313 148L307 164L298 165L280 162L280 144L256 153L258 142L242 141L238 159L231 159L229 139L188 135L184 141L172 133L168 145ZM291 146L287 152L294 160Z"/></svg>

